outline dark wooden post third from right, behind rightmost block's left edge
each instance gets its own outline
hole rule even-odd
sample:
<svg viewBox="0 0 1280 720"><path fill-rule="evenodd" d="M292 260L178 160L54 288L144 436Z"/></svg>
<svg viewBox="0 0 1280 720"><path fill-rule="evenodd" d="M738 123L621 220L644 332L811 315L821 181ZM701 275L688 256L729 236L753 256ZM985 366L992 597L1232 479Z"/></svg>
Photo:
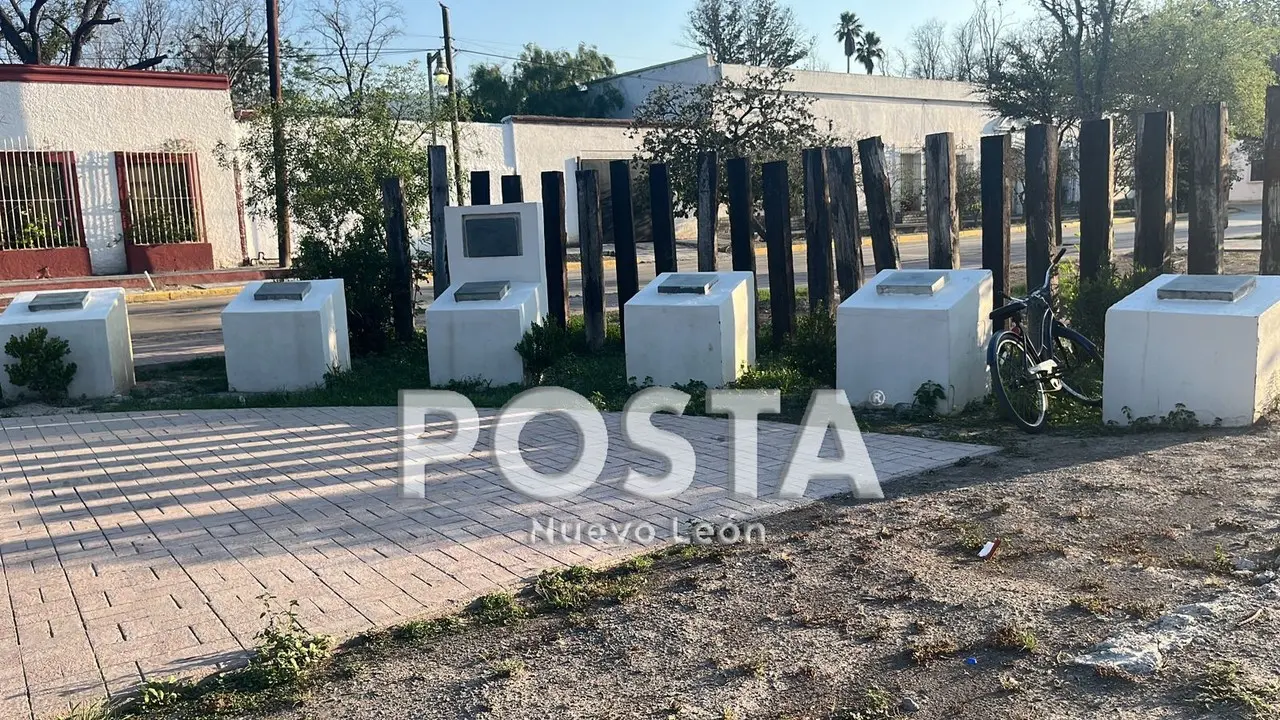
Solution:
<svg viewBox="0 0 1280 720"><path fill-rule="evenodd" d="M1134 269L1169 269L1174 260L1172 113L1147 113L1139 119L1134 184Z"/></svg>

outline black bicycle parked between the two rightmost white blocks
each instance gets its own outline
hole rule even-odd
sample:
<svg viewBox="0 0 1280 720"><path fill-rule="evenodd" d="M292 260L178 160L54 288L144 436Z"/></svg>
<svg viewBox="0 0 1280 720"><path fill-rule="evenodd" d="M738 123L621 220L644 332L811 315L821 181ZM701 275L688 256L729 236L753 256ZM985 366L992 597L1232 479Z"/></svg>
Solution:
<svg viewBox="0 0 1280 720"><path fill-rule="evenodd" d="M1044 284L1027 297L1011 297L991 313L992 322L1011 319L1012 327L1000 331L987 345L991 386L1005 414L1021 429L1034 433L1044 428L1048 396L1066 391L1076 402L1102 405L1102 354L1089 338L1069 328L1053 314L1050 281L1066 249L1061 249L1048 269ZM1041 314L1041 337L1036 342L1024 329L1023 315Z"/></svg>

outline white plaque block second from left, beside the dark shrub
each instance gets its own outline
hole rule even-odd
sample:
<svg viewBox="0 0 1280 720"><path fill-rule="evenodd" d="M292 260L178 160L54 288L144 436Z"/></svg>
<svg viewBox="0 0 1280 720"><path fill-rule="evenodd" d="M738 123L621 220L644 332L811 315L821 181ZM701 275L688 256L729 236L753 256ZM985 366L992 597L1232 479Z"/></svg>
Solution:
<svg viewBox="0 0 1280 720"><path fill-rule="evenodd" d="M252 282L223 310L233 392L305 389L351 368L342 279Z"/></svg>

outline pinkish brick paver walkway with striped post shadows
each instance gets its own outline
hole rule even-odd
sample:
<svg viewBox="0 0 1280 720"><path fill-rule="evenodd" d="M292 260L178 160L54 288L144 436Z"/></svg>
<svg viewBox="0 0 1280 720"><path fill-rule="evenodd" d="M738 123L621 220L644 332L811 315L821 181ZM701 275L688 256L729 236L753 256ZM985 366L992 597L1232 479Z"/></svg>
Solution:
<svg viewBox="0 0 1280 720"><path fill-rule="evenodd" d="M699 471L687 493L652 502L618 486L627 466L662 461L622 443L611 415L600 482L538 502L507 488L481 451L431 474L426 500L402 498L396 421L392 407L0 420L0 717L42 719L141 675L238 661L264 593L298 600L311 629L347 635L454 611L545 568L645 550L534 542L534 519L662 527L796 503L769 489L794 425L760 424L762 498L742 500L726 491L726 420L655 416L692 442ZM566 428L534 421L521 438L530 462L563 466ZM992 451L865 438L882 482ZM845 489L814 484L810 497Z"/></svg>

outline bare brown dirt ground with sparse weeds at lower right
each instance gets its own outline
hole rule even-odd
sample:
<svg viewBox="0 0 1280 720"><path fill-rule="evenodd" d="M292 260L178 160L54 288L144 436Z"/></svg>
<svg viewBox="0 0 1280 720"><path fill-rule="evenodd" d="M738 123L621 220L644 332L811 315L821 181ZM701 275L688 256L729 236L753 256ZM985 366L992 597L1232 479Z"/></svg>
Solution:
<svg viewBox="0 0 1280 720"><path fill-rule="evenodd" d="M1274 716L1277 461L1266 424L1019 439L659 564L617 605L346 651L268 716ZM1155 671L1075 662L1108 638L1149 641Z"/></svg>

